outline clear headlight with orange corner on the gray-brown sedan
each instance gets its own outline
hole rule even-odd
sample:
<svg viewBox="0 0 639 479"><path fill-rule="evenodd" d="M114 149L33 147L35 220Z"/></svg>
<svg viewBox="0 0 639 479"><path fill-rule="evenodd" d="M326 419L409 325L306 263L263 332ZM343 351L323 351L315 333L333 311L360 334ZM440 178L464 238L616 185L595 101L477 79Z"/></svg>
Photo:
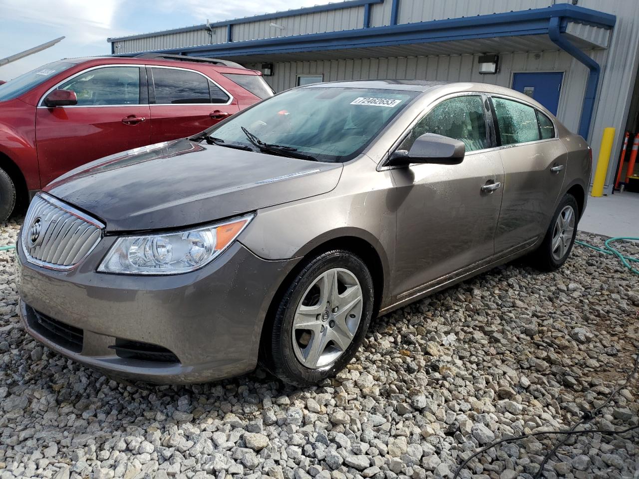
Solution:
<svg viewBox="0 0 639 479"><path fill-rule="evenodd" d="M224 251L253 215L179 232L123 236L98 271L123 275L176 275L197 270Z"/></svg>

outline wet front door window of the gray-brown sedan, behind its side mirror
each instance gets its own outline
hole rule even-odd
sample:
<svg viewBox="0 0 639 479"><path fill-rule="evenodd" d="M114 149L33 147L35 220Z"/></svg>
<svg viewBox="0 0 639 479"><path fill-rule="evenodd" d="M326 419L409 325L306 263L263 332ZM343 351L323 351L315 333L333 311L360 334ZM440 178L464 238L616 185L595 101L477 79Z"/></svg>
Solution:
<svg viewBox="0 0 639 479"><path fill-rule="evenodd" d="M424 133L463 141L466 151L488 148L481 96L458 96L439 103L420 119L399 149L409 150Z"/></svg>

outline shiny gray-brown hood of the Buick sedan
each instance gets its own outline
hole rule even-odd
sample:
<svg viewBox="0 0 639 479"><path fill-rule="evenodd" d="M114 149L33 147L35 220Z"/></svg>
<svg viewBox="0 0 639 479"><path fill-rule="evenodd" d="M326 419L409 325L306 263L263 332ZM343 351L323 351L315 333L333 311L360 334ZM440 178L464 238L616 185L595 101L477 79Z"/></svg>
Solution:
<svg viewBox="0 0 639 479"><path fill-rule="evenodd" d="M107 231L141 231L202 224L327 193L341 171L341 163L181 139L88 163L43 191L100 218Z"/></svg>

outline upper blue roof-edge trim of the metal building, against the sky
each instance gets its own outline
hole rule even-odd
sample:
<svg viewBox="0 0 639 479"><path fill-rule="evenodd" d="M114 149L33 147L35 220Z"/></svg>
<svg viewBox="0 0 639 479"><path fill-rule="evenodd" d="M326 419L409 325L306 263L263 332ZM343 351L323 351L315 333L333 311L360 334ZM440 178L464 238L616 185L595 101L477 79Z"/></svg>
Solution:
<svg viewBox="0 0 639 479"><path fill-rule="evenodd" d="M137 40L139 38L150 38L151 36L169 35L172 33L185 33L188 31L206 30L208 27L226 27L229 25L239 25L243 23L259 22L260 20L284 19L286 17L295 17L295 15L307 15L309 13L320 13L322 11L343 10L346 8L355 8L358 6L367 6L371 4L384 3L384 0L346 0L339 3L328 3L325 5L308 6L304 8L295 8L294 10L275 11L274 13L265 13L264 15L254 15L253 17L244 17L242 19L222 20L208 24L194 25L191 27L174 28L171 30L162 30L150 33L140 33L136 35L118 36L107 38L107 42L120 42L121 40Z"/></svg>

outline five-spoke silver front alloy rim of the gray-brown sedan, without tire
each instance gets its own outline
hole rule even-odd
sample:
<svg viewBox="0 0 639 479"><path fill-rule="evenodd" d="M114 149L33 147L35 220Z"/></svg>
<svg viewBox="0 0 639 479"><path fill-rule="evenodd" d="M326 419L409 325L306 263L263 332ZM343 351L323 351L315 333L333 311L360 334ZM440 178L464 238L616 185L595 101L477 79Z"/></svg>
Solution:
<svg viewBox="0 0 639 479"><path fill-rule="evenodd" d="M295 356L309 369L332 365L348 349L362 319L362 288L344 268L321 273L297 305L291 331Z"/></svg>

